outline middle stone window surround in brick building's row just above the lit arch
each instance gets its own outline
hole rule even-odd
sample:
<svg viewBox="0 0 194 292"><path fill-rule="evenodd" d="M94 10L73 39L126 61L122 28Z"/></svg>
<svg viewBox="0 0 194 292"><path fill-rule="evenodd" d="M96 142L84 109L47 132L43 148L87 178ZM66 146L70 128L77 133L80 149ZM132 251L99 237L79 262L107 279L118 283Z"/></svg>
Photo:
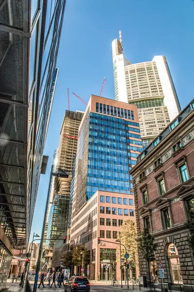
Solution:
<svg viewBox="0 0 194 292"><path fill-rule="evenodd" d="M164 223L164 216L163 216L163 211L165 209L168 209L168 213L170 215L170 228L174 226L173 222L173 216L172 216L172 211L171 211L171 203L169 198L161 198L157 201L156 207L160 210L160 216L161 216L161 221L162 221L162 229L166 230L165 228L165 223Z"/></svg>

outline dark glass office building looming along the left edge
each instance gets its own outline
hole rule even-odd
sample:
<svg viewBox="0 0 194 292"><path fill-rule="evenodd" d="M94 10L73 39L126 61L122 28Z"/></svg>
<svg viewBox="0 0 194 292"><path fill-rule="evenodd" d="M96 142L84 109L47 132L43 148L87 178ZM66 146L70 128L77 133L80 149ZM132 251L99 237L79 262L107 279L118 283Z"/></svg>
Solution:
<svg viewBox="0 0 194 292"><path fill-rule="evenodd" d="M40 174L46 170L43 151L64 11L65 0L0 1L1 288L9 256L28 243Z"/></svg>

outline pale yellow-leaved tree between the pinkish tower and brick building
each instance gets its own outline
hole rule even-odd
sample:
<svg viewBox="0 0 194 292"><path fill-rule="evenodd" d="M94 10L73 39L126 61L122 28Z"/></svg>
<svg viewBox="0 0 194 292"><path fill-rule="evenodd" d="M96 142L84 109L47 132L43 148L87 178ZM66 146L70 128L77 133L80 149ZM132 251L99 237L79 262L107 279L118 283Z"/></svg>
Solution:
<svg viewBox="0 0 194 292"><path fill-rule="evenodd" d="M137 263L137 227L135 221L130 219L124 220L120 231L120 238L121 243L127 248L129 259ZM122 250L122 256L125 256L125 250Z"/></svg>

